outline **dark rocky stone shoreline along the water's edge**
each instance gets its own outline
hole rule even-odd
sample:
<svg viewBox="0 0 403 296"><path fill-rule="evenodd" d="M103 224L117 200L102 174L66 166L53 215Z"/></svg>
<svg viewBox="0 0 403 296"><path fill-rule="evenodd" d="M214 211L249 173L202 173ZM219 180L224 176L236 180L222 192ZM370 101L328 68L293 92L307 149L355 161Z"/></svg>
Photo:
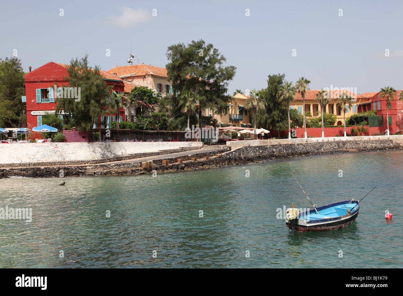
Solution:
<svg viewBox="0 0 403 296"><path fill-rule="evenodd" d="M324 155L347 153L353 151L380 151L403 149L399 143L392 140L366 141L334 141L316 143L293 143L279 145L246 146L234 151L216 156L198 155L197 160L183 159L183 163L162 165L157 160L149 168L141 168L141 164L102 164L96 166L52 166L31 168L2 168L0 178L10 176L24 177L70 177L70 176L111 176L111 175L141 175L168 173L178 171L219 168L225 166L243 165L247 163L263 163L272 159L300 157L305 155ZM190 157L189 157L190 158ZM169 159L170 162L176 159Z"/></svg>

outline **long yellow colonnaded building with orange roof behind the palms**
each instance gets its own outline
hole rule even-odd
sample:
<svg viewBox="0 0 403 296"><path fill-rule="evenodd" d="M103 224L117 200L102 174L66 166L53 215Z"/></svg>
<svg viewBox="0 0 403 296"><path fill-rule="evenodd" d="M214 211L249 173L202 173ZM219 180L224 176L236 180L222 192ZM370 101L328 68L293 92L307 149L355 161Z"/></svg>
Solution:
<svg viewBox="0 0 403 296"><path fill-rule="evenodd" d="M306 112L310 112L312 114L312 117L318 117L321 116L322 108L320 104L316 102L316 93L318 93L319 90L309 90L305 92L305 114ZM353 106L350 108L349 106L346 106L346 119L349 118L353 114L357 114L358 112L358 105L359 103L362 103L363 101L368 100L368 96L366 96L365 93L362 95L356 95L353 92L350 92L348 90L342 90L341 92L345 92L347 95L351 96L351 99L353 101ZM344 124L344 112L342 108L337 107L337 101L339 97L339 92L338 91L329 91L329 103L326 104L324 113L330 113L330 114L335 114L336 115L336 125L343 125ZM295 94L295 99L294 101L291 102L290 108L295 108L298 110L300 114L302 114L302 108L303 108L303 103L302 103L302 96L301 93L296 93Z"/></svg>

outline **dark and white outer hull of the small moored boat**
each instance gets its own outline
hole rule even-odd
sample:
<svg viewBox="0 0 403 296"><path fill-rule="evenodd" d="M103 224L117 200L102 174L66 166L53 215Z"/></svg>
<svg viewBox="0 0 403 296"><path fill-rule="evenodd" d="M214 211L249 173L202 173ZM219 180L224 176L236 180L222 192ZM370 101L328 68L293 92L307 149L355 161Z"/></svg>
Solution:
<svg viewBox="0 0 403 296"><path fill-rule="evenodd" d="M338 205L341 203L344 202L334 203L331 205L324 206L322 208ZM295 230L297 232L305 232L305 231L324 231L324 230L334 230L344 228L354 222L354 220L358 216L358 211L359 211L359 204L351 214L347 213L346 215L339 217L316 219L316 220L297 219L297 225L295 227ZM289 221L286 221L286 225L288 228L291 229Z"/></svg>

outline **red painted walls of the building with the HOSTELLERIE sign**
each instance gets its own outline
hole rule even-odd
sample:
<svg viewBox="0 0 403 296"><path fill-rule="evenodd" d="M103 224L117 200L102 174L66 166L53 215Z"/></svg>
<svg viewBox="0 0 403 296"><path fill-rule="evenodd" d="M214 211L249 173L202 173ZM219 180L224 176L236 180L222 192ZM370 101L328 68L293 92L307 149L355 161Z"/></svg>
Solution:
<svg viewBox="0 0 403 296"><path fill-rule="evenodd" d="M43 110L56 110L56 102L54 103L37 103L36 102L36 89L54 87L57 84L58 87L62 85L69 85L64 77L67 77L67 69L54 62L49 62L32 72L25 75L25 94L27 98L27 123L28 128L32 129L37 126L37 116L31 115L31 111L43 111ZM124 91L123 82L108 81L107 85L112 85L115 91ZM55 99L55 101L57 98ZM114 116L114 114L105 114ZM125 110L120 108L120 116L125 120ZM101 118L98 118L99 122Z"/></svg>

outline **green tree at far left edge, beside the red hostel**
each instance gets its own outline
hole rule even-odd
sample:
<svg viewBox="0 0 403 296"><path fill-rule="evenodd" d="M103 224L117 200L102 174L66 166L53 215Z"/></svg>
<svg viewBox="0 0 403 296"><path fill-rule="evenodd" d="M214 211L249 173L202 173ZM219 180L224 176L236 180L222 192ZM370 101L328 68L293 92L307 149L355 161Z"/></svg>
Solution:
<svg viewBox="0 0 403 296"><path fill-rule="evenodd" d="M0 127L19 127L26 121L24 71L17 57L0 61Z"/></svg>

